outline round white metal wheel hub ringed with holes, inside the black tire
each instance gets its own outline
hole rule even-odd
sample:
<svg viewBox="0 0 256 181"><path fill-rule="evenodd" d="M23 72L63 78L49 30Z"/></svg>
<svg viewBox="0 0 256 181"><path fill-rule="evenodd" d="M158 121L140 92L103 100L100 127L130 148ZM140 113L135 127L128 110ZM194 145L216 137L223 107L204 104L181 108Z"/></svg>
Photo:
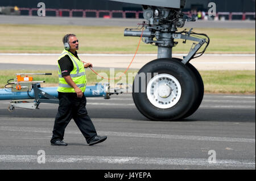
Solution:
<svg viewBox="0 0 256 181"><path fill-rule="evenodd" d="M180 83L170 74L156 75L147 85L147 98L155 107L171 108L179 102L180 96Z"/></svg>

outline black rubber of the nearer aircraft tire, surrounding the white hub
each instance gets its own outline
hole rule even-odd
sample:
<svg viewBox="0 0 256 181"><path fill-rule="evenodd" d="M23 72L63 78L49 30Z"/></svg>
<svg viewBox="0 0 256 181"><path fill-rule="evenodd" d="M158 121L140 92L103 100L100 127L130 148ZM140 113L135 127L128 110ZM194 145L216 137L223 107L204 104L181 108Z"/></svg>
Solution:
<svg viewBox="0 0 256 181"><path fill-rule="evenodd" d="M186 113L191 110L196 98L196 86L191 76L191 71L179 60L174 58L160 58L151 61L139 70L138 74L141 73L146 75L146 80L153 78L154 73L170 74L179 81L181 86L179 102L171 108L162 109L151 104L150 100L147 98L146 92L143 91L146 90L148 82L145 81L146 83L142 85L141 78L138 76L135 77L137 81L139 79L139 91L135 92L137 89L135 89L135 84L133 83L133 100L142 115L154 121L174 121L185 116Z"/></svg>

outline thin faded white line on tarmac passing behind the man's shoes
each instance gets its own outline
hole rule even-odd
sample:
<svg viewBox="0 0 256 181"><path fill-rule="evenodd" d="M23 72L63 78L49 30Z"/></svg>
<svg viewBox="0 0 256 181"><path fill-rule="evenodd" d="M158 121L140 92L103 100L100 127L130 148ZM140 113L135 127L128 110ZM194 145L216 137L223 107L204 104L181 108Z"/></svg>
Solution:
<svg viewBox="0 0 256 181"><path fill-rule="evenodd" d="M0 127L0 131L52 133L52 130L47 128L31 128L31 127L19 127L19 128ZM105 132L105 131L98 131L98 133L104 134L106 136L141 137L141 138L193 140L193 141L245 142L245 143L255 144L255 138L209 137L209 136L188 136L188 135L176 135L176 134L148 134L148 133ZM65 134L80 134L80 132L66 131Z"/></svg>

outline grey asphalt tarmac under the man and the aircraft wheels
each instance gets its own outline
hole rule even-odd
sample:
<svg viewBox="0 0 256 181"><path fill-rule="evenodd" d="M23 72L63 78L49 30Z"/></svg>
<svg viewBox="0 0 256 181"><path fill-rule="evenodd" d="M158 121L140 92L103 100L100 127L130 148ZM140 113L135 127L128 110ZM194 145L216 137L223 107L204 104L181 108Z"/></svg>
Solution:
<svg viewBox="0 0 256 181"><path fill-rule="evenodd" d="M108 136L94 146L73 120L68 146L50 145L56 104L14 112L7 106L0 101L0 169L255 169L255 95L208 94L196 113L172 122L148 120L131 94L88 98L98 134Z"/></svg>

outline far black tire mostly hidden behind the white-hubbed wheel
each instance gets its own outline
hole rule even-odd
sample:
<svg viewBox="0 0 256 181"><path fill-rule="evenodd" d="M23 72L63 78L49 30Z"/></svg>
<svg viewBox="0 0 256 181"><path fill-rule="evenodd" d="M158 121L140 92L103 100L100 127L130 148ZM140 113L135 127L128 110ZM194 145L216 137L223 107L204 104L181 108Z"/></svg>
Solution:
<svg viewBox="0 0 256 181"><path fill-rule="evenodd" d="M182 59L180 58L173 58L177 61L182 61ZM182 117L182 119L191 116L193 113L195 113L198 108L200 107L203 98L204 98L204 82L203 79L199 73L199 71L195 68L195 66L193 66L190 63L185 64L185 66L187 66L187 68L189 69L189 71L191 71L191 75L192 78L195 82L196 85L196 97L195 97L195 102L193 103L193 106L191 107L191 109Z"/></svg>

